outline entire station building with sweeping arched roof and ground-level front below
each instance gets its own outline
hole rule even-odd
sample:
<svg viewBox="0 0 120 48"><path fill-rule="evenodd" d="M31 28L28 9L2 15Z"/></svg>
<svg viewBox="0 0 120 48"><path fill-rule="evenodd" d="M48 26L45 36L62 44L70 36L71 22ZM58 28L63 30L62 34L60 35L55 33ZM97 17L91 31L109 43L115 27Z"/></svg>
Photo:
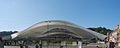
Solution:
<svg viewBox="0 0 120 48"><path fill-rule="evenodd" d="M1 37L0 47L82 48L83 42L91 39L104 40L105 37L103 34L67 21L50 20L36 23L10 36Z"/></svg>

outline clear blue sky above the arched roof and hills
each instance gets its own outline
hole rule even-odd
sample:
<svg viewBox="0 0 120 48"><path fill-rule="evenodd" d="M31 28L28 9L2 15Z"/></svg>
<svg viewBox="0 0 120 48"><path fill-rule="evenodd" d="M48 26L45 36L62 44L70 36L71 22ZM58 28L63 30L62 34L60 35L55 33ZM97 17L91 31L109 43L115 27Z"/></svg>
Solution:
<svg viewBox="0 0 120 48"><path fill-rule="evenodd" d="M120 0L0 0L0 31L22 31L47 20L114 29Z"/></svg>

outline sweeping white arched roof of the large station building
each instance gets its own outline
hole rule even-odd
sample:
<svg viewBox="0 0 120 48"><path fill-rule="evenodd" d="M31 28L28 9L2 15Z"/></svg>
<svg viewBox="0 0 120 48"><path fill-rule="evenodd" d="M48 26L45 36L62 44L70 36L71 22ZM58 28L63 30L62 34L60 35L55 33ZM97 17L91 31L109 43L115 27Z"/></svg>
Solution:
<svg viewBox="0 0 120 48"><path fill-rule="evenodd" d="M56 31L55 31L56 30ZM57 32L57 30L63 30L64 32ZM53 31L53 32L52 32ZM40 38L48 35L54 34L68 34L78 38L99 38L103 40L106 36L91 30L88 30L84 27L66 22L61 20L50 20L39 22L24 31L21 31L17 36L13 36L12 39L30 39L30 38Z"/></svg>

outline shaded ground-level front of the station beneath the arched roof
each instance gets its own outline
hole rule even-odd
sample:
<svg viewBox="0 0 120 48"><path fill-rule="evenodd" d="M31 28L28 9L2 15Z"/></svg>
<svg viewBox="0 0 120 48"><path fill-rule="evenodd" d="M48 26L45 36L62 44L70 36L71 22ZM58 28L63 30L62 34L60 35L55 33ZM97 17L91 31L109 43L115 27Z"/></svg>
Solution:
<svg viewBox="0 0 120 48"><path fill-rule="evenodd" d="M81 39L68 34L47 35L37 39L6 41L5 46L17 48L81 48Z"/></svg>

